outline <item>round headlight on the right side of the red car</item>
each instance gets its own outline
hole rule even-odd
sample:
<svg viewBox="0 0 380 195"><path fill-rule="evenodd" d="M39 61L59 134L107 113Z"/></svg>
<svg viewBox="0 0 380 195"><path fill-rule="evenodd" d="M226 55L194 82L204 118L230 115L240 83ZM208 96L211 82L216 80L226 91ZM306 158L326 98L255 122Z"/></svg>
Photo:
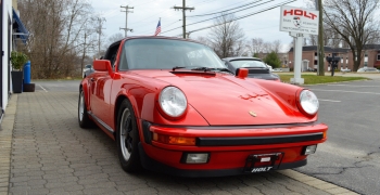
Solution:
<svg viewBox="0 0 380 195"><path fill-rule="evenodd" d="M303 90L300 94L300 104L304 112L314 115L318 112L319 101L317 96L309 90Z"/></svg>

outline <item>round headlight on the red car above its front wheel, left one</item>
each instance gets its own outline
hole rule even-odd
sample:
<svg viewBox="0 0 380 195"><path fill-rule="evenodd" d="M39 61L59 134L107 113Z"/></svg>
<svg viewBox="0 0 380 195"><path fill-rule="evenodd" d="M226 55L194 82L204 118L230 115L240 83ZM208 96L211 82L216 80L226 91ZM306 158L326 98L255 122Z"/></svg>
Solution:
<svg viewBox="0 0 380 195"><path fill-rule="evenodd" d="M181 116L187 106L185 93L176 87L166 87L160 93L160 106L170 117Z"/></svg>

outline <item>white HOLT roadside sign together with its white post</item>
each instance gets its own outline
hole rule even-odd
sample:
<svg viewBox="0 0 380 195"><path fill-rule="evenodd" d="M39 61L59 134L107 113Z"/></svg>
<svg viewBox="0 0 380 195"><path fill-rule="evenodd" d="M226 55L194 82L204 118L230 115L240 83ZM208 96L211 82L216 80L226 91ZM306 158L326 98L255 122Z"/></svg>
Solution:
<svg viewBox="0 0 380 195"><path fill-rule="evenodd" d="M318 35L319 12L293 6L281 6L280 31L289 31L294 37L294 78L291 83L303 84L301 78L303 39L308 35Z"/></svg>

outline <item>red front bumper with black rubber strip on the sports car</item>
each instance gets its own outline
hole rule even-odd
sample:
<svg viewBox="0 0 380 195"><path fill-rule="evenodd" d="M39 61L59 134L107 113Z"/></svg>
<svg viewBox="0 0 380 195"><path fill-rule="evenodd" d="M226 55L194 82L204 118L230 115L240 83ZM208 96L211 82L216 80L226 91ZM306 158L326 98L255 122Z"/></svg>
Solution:
<svg viewBox="0 0 380 195"><path fill-rule="evenodd" d="M255 126L255 127L164 127L141 121L143 140L139 144L145 169L181 177L219 177L246 174L243 171L250 155L281 153L276 169L306 165L303 152L308 145L327 140L324 123ZM159 143L152 133L195 136L195 146ZM208 153L206 164L185 164L185 153Z"/></svg>

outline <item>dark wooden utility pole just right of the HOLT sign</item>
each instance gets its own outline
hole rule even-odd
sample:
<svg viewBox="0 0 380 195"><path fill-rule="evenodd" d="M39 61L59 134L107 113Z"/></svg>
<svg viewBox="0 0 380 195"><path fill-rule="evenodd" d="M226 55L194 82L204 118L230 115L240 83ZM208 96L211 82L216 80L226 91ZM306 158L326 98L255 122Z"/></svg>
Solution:
<svg viewBox="0 0 380 195"><path fill-rule="evenodd" d="M325 46L324 46L324 6L322 0L315 0L316 9L319 11L318 21L318 73L319 76L325 76Z"/></svg>

